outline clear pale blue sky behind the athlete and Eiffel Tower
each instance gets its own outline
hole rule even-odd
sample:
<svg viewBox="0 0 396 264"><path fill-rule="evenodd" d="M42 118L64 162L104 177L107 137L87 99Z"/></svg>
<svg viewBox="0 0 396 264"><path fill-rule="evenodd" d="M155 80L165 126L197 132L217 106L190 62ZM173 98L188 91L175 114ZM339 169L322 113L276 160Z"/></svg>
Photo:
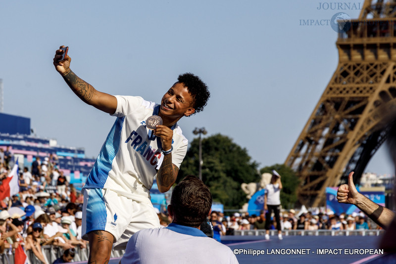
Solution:
<svg viewBox="0 0 396 264"><path fill-rule="evenodd" d="M360 12L318 10L324 2L1 1L4 113L96 157L114 118L80 101L55 71L64 44L72 70L110 94L159 102L180 73L200 76L211 98L179 122L185 136L205 127L233 138L260 168L283 163L338 63L330 25L300 20ZM366 170L394 174L384 147Z"/></svg>

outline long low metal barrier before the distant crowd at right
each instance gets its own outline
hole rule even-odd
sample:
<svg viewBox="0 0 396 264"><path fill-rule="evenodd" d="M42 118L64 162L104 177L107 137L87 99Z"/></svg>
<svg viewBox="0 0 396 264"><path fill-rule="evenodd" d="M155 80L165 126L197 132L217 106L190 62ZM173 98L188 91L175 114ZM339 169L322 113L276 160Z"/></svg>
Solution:
<svg viewBox="0 0 396 264"><path fill-rule="evenodd" d="M277 235L278 230L269 230L270 235ZM362 230L328 230L328 229L319 229L319 230L283 230L282 234L284 236L305 236L305 235L313 235L313 236L379 236L384 233L383 229L362 229ZM263 236L265 235L265 229L257 229L257 230L235 230L234 235L253 235L253 236Z"/></svg>

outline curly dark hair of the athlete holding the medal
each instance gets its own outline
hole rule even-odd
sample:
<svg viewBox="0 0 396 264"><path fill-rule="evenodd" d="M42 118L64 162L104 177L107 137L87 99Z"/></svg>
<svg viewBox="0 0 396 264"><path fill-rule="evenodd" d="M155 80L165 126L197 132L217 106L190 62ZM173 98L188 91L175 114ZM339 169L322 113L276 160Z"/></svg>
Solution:
<svg viewBox="0 0 396 264"><path fill-rule="evenodd" d="M210 92L206 84L202 82L198 76L192 73L181 74L177 80L179 83L184 84L193 97L195 113L202 111L210 97Z"/></svg>

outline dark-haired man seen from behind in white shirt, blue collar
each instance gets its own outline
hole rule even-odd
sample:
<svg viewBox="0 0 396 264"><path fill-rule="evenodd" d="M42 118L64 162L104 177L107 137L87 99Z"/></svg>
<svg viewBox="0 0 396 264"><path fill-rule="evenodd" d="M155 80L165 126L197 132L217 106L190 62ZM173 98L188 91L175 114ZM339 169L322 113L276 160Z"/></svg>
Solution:
<svg viewBox="0 0 396 264"><path fill-rule="evenodd" d="M186 176L173 190L168 205L172 223L143 229L128 241L121 264L238 264L231 249L207 237L200 224L210 214L212 196L196 176Z"/></svg>

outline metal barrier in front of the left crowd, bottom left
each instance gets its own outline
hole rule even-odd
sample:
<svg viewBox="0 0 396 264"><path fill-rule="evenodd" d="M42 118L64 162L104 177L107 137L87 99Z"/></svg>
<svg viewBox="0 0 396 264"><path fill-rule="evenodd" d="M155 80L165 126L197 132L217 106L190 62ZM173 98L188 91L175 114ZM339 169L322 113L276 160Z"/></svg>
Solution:
<svg viewBox="0 0 396 264"><path fill-rule="evenodd" d="M48 264L52 264L57 258L60 258L63 254L63 249L55 246L42 246L42 252L44 258L46 259ZM118 250L111 252L111 258L122 257L125 253L125 250ZM30 261L30 264L42 264L42 262L36 258L33 251L28 250L26 255ZM80 261L88 261L89 249L81 249L79 247L75 248L75 256L73 262ZM14 264L14 254L10 252L8 249L4 250L3 254L0 254L0 263L1 264Z"/></svg>

